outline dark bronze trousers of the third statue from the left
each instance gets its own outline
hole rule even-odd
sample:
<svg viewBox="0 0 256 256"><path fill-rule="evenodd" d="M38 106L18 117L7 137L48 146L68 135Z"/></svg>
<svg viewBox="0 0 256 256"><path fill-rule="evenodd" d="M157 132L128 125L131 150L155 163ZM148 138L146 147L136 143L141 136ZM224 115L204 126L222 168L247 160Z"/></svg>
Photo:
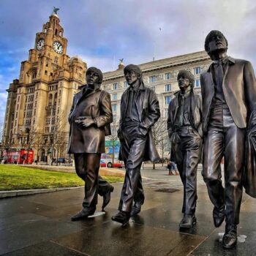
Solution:
<svg viewBox="0 0 256 256"><path fill-rule="evenodd" d="M184 129L178 133L181 142L174 146L176 162L184 186L182 213L195 214L197 201L197 165L202 139L196 131Z"/></svg>

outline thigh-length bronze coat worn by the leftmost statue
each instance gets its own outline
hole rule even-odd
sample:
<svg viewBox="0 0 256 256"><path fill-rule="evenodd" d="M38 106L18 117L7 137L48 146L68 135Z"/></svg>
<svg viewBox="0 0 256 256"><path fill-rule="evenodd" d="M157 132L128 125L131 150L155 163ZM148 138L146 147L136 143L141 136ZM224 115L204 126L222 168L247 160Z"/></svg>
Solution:
<svg viewBox="0 0 256 256"><path fill-rule="evenodd" d="M80 127L75 123L79 116L94 118L96 124ZM75 94L69 113L68 153L104 153L105 135L110 135L109 124L113 121L110 94L97 88Z"/></svg>

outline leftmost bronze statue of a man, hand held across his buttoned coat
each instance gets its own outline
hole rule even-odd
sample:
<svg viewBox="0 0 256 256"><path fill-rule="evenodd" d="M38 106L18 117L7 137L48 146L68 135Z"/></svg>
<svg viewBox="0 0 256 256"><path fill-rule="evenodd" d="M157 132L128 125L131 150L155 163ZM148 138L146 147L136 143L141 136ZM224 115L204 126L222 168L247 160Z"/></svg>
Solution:
<svg viewBox="0 0 256 256"><path fill-rule="evenodd" d="M113 187L99 174L101 154L105 152L105 135L110 135L113 120L110 94L100 89L102 72L96 67L86 71L85 86L75 94L69 113L69 154L74 154L75 171L86 181L83 209L72 220L94 214L97 194L103 196L102 210L110 201Z"/></svg>

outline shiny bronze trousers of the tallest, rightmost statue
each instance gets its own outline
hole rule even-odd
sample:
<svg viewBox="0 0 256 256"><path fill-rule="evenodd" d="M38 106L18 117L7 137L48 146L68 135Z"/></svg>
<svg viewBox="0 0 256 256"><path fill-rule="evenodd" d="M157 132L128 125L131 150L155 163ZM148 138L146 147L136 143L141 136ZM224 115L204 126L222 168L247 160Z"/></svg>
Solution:
<svg viewBox="0 0 256 256"><path fill-rule="evenodd" d="M239 223L242 197L241 176L244 165L245 129L239 129L228 108L214 110L205 139L203 178L215 207L226 206L226 222ZM220 162L225 154L225 189Z"/></svg>

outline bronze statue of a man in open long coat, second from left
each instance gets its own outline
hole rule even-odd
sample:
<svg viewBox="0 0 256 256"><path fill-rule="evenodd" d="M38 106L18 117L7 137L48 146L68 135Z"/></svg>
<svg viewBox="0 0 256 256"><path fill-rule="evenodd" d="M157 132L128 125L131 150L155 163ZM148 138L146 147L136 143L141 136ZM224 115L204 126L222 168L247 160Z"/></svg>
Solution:
<svg viewBox="0 0 256 256"><path fill-rule="evenodd" d="M119 212L112 217L113 221L123 225L129 222L131 215L135 216L140 212L144 202L140 174L142 162L159 159L151 127L160 117L157 95L144 85L140 67L129 64L124 67L124 76L129 87L121 97L118 138L121 143L119 158L124 160L126 175Z"/></svg>

